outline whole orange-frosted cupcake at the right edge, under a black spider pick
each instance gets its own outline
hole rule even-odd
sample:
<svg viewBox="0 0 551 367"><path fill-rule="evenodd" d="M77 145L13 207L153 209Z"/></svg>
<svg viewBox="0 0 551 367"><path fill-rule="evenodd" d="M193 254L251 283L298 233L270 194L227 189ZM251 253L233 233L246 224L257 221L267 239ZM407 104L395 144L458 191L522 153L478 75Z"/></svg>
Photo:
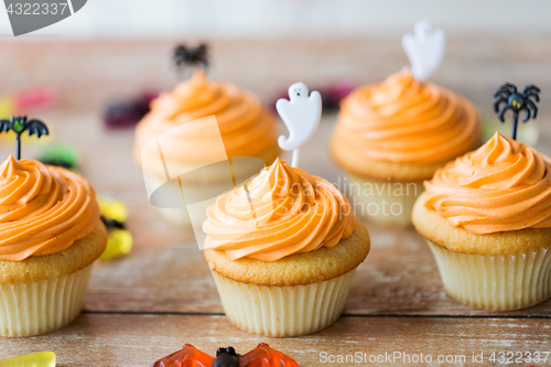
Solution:
<svg viewBox="0 0 551 367"><path fill-rule="evenodd" d="M496 311L551 296L551 159L496 133L424 186L413 225L450 295Z"/></svg>

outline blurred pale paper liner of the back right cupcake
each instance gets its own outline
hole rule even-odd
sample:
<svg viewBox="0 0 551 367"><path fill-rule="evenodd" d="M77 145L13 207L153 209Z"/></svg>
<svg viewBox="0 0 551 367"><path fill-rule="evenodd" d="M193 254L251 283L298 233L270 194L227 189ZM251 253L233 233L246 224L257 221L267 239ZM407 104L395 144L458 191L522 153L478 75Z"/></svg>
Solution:
<svg viewBox="0 0 551 367"><path fill-rule="evenodd" d="M413 205L424 191L421 182L378 181L350 174L347 180L346 194L352 196L350 204L356 215L382 225L411 225Z"/></svg>

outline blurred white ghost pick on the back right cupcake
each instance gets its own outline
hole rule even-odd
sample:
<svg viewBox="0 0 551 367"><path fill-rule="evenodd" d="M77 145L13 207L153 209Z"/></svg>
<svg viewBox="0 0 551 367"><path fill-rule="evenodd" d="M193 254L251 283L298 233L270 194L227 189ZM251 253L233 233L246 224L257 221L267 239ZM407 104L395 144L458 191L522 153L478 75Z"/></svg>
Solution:
<svg viewBox="0 0 551 367"><path fill-rule="evenodd" d="M431 22L419 21L413 34L402 36L402 46L410 60L411 74L420 82L426 80L437 71L446 47L444 31L435 29Z"/></svg>

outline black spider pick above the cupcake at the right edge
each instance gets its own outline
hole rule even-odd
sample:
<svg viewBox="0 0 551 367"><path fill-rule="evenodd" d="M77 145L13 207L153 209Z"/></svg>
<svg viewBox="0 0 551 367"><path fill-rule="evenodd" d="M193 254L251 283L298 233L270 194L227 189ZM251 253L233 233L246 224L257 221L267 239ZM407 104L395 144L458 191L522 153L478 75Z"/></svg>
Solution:
<svg viewBox="0 0 551 367"><path fill-rule="evenodd" d="M517 87L510 83L506 83L494 91L494 110L497 112L499 120L505 122L504 114L508 109L512 110L512 133L511 138L517 140L517 123L519 112L525 110L526 115L522 122L534 119L538 116L538 107L536 102L540 101L540 88L534 85L528 85L521 93L517 91ZM533 100L532 100L533 98ZM501 108L499 108L499 106Z"/></svg>

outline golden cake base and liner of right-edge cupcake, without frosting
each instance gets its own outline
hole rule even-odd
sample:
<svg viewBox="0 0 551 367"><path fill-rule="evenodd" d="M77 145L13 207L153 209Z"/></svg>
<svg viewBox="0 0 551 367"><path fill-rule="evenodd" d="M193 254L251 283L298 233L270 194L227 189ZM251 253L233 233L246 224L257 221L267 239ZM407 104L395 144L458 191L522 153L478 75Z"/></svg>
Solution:
<svg viewBox="0 0 551 367"><path fill-rule="evenodd" d="M424 194L414 205L413 224L434 255L445 290L457 301L509 311L551 298L551 228L475 235L426 208Z"/></svg>

